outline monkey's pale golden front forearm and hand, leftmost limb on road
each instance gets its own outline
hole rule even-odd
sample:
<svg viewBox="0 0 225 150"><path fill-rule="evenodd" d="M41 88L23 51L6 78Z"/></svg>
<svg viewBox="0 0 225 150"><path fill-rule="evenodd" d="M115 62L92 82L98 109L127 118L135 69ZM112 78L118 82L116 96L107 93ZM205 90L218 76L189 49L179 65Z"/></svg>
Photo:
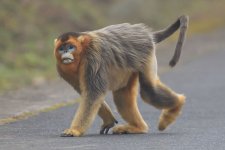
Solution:
<svg viewBox="0 0 225 150"><path fill-rule="evenodd" d="M94 100L82 98L70 128L66 129L61 136L82 136L95 119L103 100L104 96L98 96Z"/></svg>

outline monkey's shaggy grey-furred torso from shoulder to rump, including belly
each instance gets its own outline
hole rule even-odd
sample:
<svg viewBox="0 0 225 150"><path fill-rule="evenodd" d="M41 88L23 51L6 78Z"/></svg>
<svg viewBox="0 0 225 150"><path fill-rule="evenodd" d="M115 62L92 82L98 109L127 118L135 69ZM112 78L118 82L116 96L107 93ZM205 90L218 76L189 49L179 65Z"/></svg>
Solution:
<svg viewBox="0 0 225 150"><path fill-rule="evenodd" d="M90 97L123 87L132 72L142 73L151 60L156 61L151 58L155 56L151 29L144 24L111 25L86 34L93 39L85 55L87 88L94 91ZM156 75L157 67L153 70Z"/></svg>

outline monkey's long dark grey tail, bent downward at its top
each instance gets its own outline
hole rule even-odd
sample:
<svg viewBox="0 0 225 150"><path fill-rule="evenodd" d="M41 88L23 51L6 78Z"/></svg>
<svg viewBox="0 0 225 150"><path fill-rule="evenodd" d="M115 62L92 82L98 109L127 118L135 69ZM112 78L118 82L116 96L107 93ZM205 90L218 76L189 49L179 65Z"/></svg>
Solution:
<svg viewBox="0 0 225 150"><path fill-rule="evenodd" d="M174 52L173 58L170 60L170 63L169 63L171 67L174 67L180 58L181 49L184 43L184 39L186 36L187 27L188 27L188 20L189 20L188 16L185 16L185 15L180 16L169 27L160 31L153 32L154 41L156 43L159 43L165 40L166 38L168 38L169 36L171 36L175 31L177 31L177 29L180 28L180 34L179 34L179 38L175 48L175 52Z"/></svg>

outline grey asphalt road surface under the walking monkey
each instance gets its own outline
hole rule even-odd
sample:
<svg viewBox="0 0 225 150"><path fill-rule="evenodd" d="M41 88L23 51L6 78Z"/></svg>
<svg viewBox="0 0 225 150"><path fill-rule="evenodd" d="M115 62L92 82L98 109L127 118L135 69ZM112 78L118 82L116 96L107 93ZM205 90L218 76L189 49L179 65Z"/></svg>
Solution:
<svg viewBox="0 0 225 150"><path fill-rule="evenodd" d="M59 135L69 127L76 104L0 126L0 150L224 150L225 32L219 33L218 39L203 36L187 41L180 64L161 75L164 83L187 96L182 116L166 131L157 130L160 111L139 98L141 113L150 125L148 134L99 135L101 120L97 117L84 137L62 138ZM106 101L123 123L110 94Z"/></svg>

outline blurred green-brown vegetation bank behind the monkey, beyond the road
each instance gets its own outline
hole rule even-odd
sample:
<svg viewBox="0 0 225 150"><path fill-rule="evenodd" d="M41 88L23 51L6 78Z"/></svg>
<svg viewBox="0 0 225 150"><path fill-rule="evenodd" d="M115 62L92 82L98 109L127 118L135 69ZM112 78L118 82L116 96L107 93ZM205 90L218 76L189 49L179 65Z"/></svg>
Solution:
<svg viewBox="0 0 225 150"><path fill-rule="evenodd" d="M190 16L189 35L225 25L221 0L1 0L0 91L55 79L53 40L67 31L146 23L160 29Z"/></svg>

